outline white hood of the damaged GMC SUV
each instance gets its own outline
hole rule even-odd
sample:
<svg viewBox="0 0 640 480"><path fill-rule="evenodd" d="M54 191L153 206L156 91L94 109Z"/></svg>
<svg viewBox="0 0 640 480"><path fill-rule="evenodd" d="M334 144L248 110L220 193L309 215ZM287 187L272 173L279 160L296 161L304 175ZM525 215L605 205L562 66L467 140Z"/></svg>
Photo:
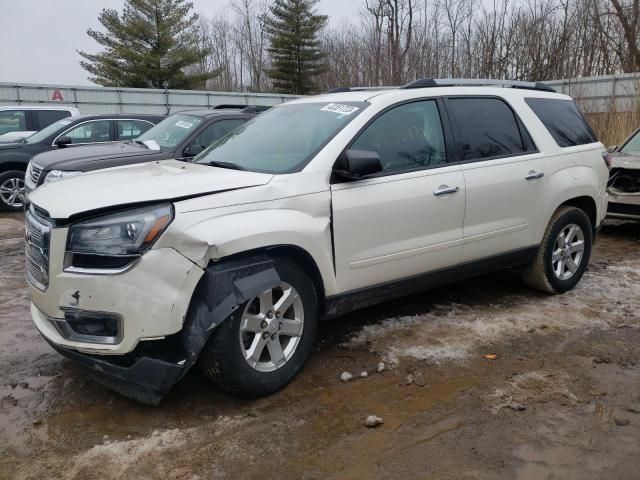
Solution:
<svg viewBox="0 0 640 480"><path fill-rule="evenodd" d="M269 183L273 175L166 160L85 173L46 183L29 200L52 218L119 205L176 200Z"/></svg>

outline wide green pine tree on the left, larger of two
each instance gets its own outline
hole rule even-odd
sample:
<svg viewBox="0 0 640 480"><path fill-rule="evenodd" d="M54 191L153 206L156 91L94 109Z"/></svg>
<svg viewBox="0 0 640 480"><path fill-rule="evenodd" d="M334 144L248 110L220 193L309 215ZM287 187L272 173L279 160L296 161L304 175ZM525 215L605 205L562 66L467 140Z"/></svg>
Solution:
<svg viewBox="0 0 640 480"><path fill-rule="evenodd" d="M126 0L122 14L103 9L106 33L87 34L105 50L78 53L82 68L105 87L202 88L213 73L188 74L208 51L198 45L198 15L185 0Z"/></svg>

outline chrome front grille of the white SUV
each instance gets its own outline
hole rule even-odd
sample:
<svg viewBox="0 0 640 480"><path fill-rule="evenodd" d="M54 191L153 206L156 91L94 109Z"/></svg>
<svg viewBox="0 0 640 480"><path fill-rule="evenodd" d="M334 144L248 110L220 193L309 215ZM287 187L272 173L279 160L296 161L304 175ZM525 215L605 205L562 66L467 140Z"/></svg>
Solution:
<svg viewBox="0 0 640 480"><path fill-rule="evenodd" d="M27 280L34 287L46 290L49 285L49 242L51 224L27 211L25 215L25 260Z"/></svg>

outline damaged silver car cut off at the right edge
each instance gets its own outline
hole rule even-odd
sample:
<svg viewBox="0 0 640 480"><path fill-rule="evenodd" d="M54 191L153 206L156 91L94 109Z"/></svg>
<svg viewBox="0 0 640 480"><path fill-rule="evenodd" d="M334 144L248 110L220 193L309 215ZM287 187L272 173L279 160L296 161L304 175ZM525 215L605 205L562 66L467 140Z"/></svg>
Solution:
<svg viewBox="0 0 640 480"><path fill-rule="evenodd" d="M607 150L611 163L607 217L640 220L640 128Z"/></svg>

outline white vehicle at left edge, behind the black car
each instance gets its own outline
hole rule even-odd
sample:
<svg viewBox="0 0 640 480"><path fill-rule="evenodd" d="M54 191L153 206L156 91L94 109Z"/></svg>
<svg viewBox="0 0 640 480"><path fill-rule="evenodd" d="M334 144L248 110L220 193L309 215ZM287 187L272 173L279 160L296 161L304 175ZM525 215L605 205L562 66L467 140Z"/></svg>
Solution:
<svg viewBox="0 0 640 480"><path fill-rule="evenodd" d="M67 117L77 117L77 108L61 105L0 107L0 142L17 142Z"/></svg>

